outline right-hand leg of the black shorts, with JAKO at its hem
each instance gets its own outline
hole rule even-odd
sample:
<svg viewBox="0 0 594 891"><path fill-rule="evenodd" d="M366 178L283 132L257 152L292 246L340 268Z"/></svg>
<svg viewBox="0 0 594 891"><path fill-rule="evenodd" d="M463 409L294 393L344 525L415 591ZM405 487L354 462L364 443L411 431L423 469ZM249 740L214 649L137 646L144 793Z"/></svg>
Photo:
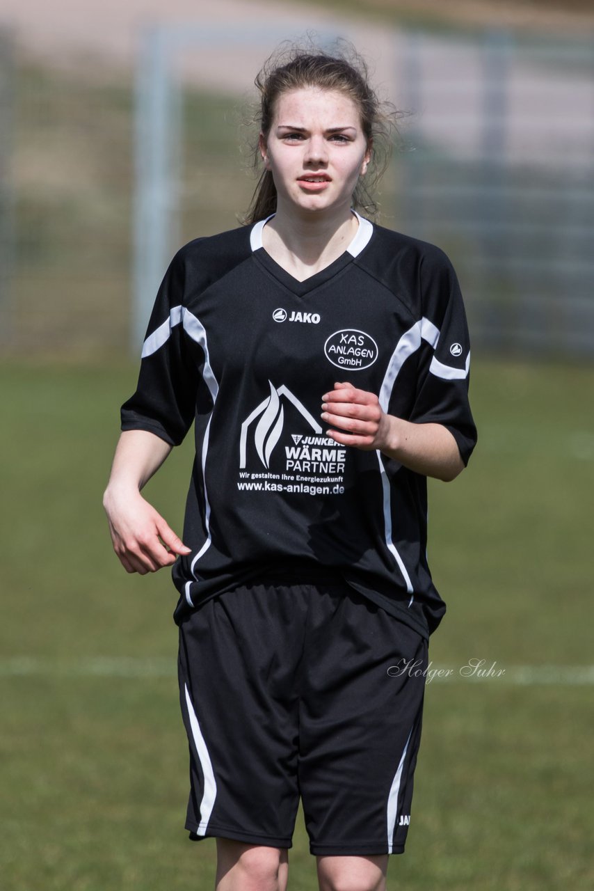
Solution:
<svg viewBox="0 0 594 891"><path fill-rule="evenodd" d="M314 602L300 684L298 759L310 851L402 853L427 641L348 589Z"/></svg>

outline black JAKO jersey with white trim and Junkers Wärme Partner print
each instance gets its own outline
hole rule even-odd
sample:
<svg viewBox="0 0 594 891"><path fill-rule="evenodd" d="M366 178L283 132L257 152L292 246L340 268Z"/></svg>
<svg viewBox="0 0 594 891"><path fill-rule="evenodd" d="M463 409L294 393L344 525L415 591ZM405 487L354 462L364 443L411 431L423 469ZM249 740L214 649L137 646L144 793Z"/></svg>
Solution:
<svg viewBox="0 0 594 891"><path fill-rule="evenodd" d="M172 445L195 421L175 619L275 567L317 565L427 635L445 610L427 566L427 479L327 437L321 396L349 381L387 413L443 424L468 462L456 275L442 250L359 217L346 252L298 282L263 249L264 223L175 255L122 406L123 430Z"/></svg>

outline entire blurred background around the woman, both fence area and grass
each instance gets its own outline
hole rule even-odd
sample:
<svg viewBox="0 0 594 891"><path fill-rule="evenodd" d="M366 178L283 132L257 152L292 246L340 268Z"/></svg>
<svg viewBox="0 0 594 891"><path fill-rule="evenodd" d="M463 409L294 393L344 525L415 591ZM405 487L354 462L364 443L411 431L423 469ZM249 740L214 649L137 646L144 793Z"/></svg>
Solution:
<svg viewBox="0 0 594 891"><path fill-rule="evenodd" d="M119 568L101 496L168 260L238 225L254 77L307 33L352 40L402 111L378 222L446 250L474 345L479 446L431 484L452 674L393 880L594 882L591 4L0 0L6 891L212 885L182 830L173 588ZM147 490L178 529L190 464L188 442ZM306 851L299 824L297 889Z"/></svg>

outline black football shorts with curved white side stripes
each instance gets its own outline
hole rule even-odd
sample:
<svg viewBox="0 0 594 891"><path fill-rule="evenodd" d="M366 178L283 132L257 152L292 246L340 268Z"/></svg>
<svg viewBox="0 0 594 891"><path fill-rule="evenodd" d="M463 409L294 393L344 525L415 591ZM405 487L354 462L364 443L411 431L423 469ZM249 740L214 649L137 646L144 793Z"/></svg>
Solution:
<svg viewBox="0 0 594 891"><path fill-rule="evenodd" d="M180 626L191 838L289 848L301 797L312 854L401 854L426 667L427 641L342 580L205 602Z"/></svg>

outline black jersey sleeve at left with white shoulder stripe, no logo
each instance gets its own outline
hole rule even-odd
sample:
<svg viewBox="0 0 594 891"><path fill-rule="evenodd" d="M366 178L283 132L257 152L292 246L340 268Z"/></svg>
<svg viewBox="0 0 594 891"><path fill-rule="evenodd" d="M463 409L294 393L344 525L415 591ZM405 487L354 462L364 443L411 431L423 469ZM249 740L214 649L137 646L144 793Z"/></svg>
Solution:
<svg viewBox="0 0 594 891"><path fill-rule="evenodd" d="M182 250L161 282L142 345L138 385L121 408L122 430L148 430L170 446L179 445L191 427L199 382L199 356L183 337L185 286Z"/></svg>

